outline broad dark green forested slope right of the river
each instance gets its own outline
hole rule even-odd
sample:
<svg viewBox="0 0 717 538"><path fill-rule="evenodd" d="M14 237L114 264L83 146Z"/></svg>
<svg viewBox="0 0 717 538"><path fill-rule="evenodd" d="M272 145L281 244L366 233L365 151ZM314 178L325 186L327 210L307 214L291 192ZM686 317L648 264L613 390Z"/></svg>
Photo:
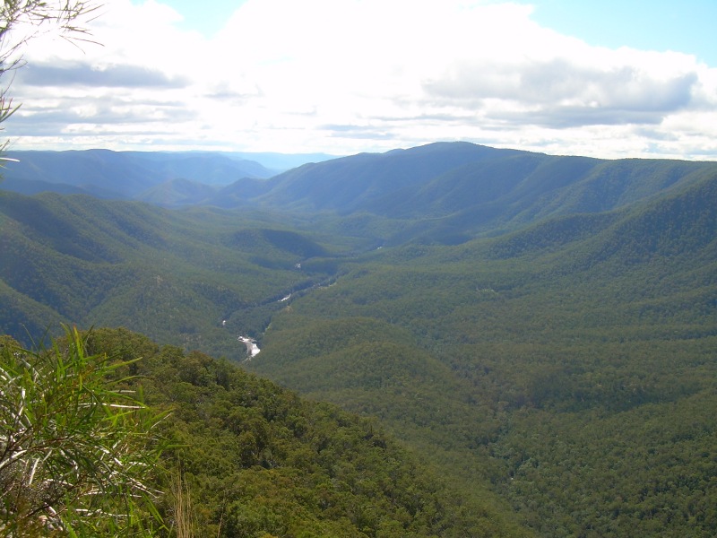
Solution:
<svg viewBox="0 0 717 538"><path fill-rule="evenodd" d="M277 313L247 368L382 417L540 535L710 535L716 188L384 248Z"/></svg>

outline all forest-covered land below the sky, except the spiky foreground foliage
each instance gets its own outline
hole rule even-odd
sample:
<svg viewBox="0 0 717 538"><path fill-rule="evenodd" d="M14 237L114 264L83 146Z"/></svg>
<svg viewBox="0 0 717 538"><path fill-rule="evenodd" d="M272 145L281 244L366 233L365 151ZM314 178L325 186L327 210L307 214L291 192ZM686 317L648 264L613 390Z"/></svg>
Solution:
<svg viewBox="0 0 717 538"><path fill-rule="evenodd" d="M5 496L0 534L717 534L717 164L19 157L4 375L99 360L155 459L125 519L62 493L13 531Z"/></svg>

